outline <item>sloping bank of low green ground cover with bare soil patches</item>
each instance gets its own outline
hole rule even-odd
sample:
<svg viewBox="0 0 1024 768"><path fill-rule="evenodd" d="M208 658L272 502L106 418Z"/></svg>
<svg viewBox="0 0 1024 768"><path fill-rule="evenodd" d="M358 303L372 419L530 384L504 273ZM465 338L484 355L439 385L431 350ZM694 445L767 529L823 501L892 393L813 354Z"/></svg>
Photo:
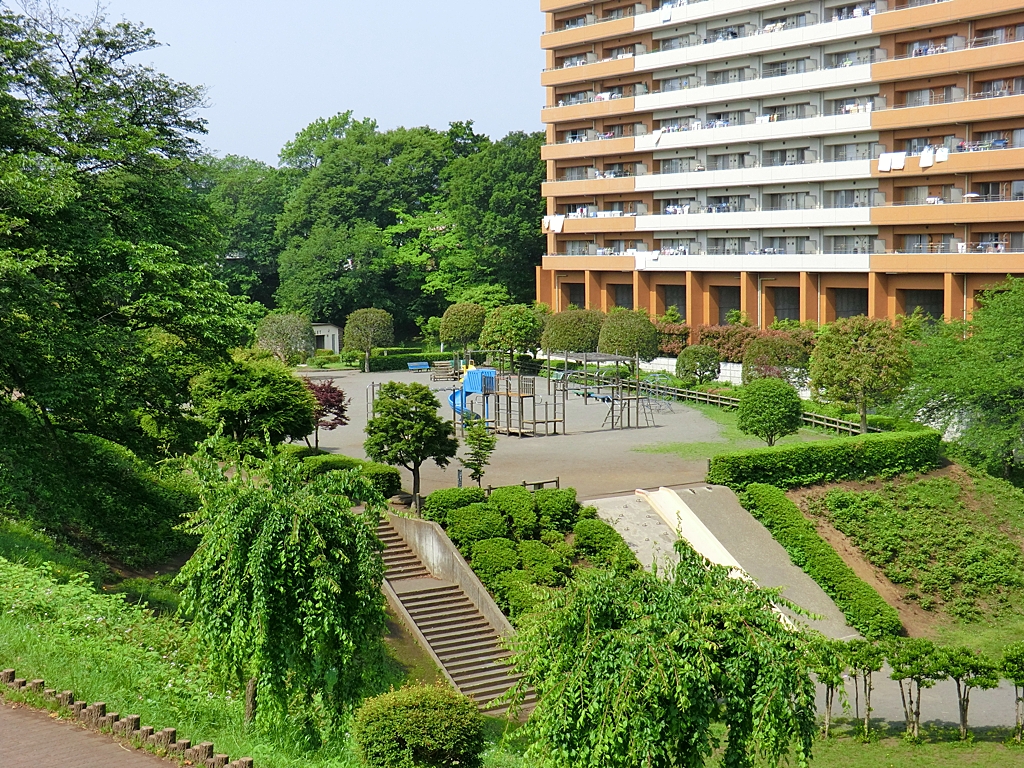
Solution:
<svg viewBox="0 0 1024 768"><path fill-rule="evenodd" d="M919 634L996 657L1024 637L1020 488L954 465L812 490L802 503L848 537L904 603L934 616Z"/></svg>

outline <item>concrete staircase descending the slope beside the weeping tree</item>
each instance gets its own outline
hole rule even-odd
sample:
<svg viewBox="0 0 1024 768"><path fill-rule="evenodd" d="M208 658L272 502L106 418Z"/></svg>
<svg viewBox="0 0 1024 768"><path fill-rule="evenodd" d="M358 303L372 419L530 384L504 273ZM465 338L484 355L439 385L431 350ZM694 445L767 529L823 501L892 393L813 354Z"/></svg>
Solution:
<svg viewBox="0 0 1024 768"><path fill-rule="evenodd" d="M377 530L384 543L384 578L403 612L415 625L414 634L457 690L492 715L508 708L496 705L519 679L508 664L498 630L457 584L436 579L388 521ZM535 701L530 692L523 705Z"/></svg>

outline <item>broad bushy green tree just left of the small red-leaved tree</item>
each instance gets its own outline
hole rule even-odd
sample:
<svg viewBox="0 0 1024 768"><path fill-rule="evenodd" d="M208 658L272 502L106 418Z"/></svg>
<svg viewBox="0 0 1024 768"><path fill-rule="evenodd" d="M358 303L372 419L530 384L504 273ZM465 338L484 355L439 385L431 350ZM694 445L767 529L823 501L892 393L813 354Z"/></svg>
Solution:
<svg viewBox="0 0 1024 768"><path fill-rule="evenodd" d="M269 440L303 439L316 427L315 400L306 386L269 353L240 352L193 382L197 415L213 431L222 428L243 451Z"/></svg>

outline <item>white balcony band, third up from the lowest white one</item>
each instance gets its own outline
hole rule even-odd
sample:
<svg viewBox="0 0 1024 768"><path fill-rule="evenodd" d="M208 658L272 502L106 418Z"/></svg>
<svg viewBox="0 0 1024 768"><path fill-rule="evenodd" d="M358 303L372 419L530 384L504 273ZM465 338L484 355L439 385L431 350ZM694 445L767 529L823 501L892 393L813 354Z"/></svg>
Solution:
<svg viewBox="0 0 1024 768"><path fill-rule="evenodd" d="M706 189L717 186L761 186L764 184L814 183L871 177L871 161L806 163L761 168L733 168L727 171L690 171L637 176L637 191ZM693 214L695 215L695 214Z"/></svg>

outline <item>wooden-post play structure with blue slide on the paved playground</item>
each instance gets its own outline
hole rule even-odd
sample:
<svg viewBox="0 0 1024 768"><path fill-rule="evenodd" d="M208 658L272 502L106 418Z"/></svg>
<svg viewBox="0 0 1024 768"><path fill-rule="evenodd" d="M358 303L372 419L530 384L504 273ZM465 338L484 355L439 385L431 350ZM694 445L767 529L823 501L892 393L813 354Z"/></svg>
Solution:
<svg viewBox="0 0 1024 768"><path fill-rule="evenodd" d="M501 376L494 369L471 368L447 400L461 430L482 419L498 434L538 437L565 432L565 393L551 401L539 399L532 376Z"/></svg>

